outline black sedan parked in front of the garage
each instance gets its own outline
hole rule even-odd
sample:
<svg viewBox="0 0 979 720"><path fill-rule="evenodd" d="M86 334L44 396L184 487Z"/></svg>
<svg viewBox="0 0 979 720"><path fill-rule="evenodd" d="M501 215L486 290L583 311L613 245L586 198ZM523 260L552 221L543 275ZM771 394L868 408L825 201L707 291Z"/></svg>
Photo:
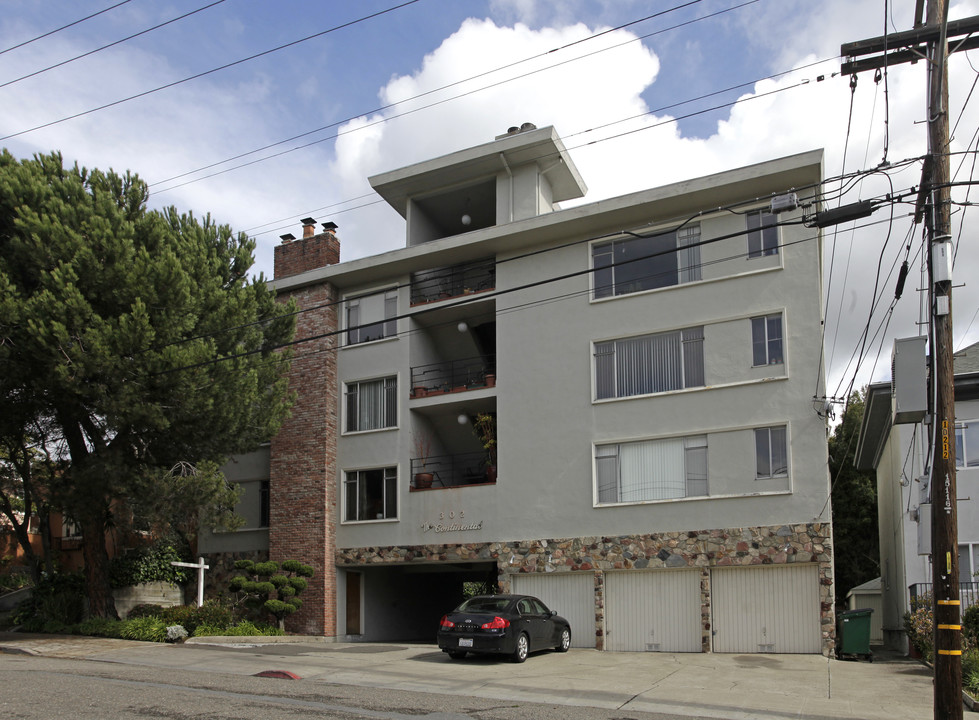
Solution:
<svg viewBox="0 0 979 720"><path fill-rule="evenodd" d="M442 616L438 642L455 660L467 653L497 653L523 662L535 650L567 652L571 625L530 595L477 595Z"/></svg>

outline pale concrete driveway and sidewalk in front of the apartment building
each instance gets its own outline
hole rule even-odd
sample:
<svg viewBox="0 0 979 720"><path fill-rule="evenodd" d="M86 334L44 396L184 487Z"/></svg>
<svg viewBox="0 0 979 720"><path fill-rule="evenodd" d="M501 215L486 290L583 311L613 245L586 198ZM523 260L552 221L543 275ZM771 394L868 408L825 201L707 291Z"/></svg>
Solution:
<svg viewBox="0 0 979 720"><path fill-rule="evenodd" d="M270 642L276 641L277 642ZM261 644L259 644L261 643ZM932 716L930 670L880 656L841 662L818 655L543 652L513 665L452 661L434 645L332 643L318 638L200 638L183 645L0 633L2 653L77 658L196 672L291 672L304 682L385 687L696 718Z"/></svg>

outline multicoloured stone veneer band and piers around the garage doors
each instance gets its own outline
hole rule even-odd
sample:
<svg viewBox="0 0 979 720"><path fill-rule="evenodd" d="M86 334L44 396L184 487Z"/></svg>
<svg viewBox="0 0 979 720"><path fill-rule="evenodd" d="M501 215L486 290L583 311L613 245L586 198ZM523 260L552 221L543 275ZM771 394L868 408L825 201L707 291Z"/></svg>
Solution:
<svg viewBox="0 0 979 720"><path fill-rule="evenodd" d="M594 571L596 647L604 649L605 571L701 568L701 648L710 652L710 568L815 563L823 654L836 646L830 523L514 542L341 548L338 567L495 560L501 592L519 573Z"/></svg>

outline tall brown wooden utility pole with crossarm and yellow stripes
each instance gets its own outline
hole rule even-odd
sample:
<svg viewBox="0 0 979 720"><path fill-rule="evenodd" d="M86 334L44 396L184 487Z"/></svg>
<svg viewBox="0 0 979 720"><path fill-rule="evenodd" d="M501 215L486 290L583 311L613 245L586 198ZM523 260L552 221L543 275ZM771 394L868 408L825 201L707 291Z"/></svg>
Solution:
<svg viewBox="0 0 979 720"><path fill-rule="evenodd" d="M948 38L964 36L953 52L972 47L979 18L948 23L947 0L917 0L915 29L844 45L843 74L924 59L928 71L928 154L916 219L928 229L933 388L931 559L934 599L935 720L962 718L962 626L959 603L955 476L955 370L952 361L951 190L948 159ZM856 56L874 57L854 60Z"/></svg>

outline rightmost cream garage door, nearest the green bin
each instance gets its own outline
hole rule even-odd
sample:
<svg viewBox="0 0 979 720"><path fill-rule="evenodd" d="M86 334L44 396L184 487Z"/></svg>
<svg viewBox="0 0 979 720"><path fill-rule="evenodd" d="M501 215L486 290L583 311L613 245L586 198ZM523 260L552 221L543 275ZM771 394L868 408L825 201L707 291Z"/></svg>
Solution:
<svg viewBox="0 0 979 720"><path fill-rule="evenodd" d="M711 571L714 652L818 653L815 565Z"/></svg>

